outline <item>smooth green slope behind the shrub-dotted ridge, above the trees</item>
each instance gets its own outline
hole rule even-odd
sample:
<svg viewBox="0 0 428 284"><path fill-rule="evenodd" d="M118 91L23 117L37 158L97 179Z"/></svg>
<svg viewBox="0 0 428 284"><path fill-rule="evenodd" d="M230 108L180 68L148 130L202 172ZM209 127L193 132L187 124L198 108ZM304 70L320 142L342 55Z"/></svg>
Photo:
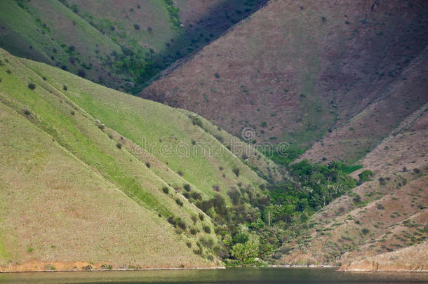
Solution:
<svg viewBox="0 0 428 284"><path fill-rule="evenodd" d="M239 184L257 188L264 183L240 158L180 111L99 86L48 65L22 62L46 76L57 90L67 86L63 95L107 128L146 149L204 194L213 196L213 187L218 187L220 194L227 196L227 191ZM139 149L133 149L134 144L122 143L131 154L139 154ZM234 169L239 170L238 175Z"/></svg>

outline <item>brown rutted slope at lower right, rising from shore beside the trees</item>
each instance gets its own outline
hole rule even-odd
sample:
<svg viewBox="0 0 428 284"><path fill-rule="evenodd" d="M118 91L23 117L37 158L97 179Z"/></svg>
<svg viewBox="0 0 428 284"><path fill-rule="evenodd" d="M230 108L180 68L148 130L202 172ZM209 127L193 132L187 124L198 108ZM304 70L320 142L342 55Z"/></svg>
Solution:
<svg viewBox="0 0 428 284"><path fill-rule="evenodd" d="M364 266L376 270L376 259L389 256L390 261L380 262L377 269L420 270L426 266L426 257L411 252L417 250L413 245L425 243L419 246L424 248L428 237L427 126L425 104L359 161L363 168L352 175L358 177L370 170L373 177L366 175L368 181L351 194L316 213L306 241L290 241L283 262L300 260L343 264L347 270L364 270ZM380 255L407 247L395 254L401 255L400 259Z"/></svg>

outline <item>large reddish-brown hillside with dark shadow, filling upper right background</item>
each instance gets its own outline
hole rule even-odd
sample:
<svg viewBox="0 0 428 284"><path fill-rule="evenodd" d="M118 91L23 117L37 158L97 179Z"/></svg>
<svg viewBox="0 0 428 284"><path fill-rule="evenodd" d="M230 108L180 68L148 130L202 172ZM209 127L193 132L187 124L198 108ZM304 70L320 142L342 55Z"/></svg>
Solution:
<svg viewBox="0 0 428 284"><path fill-rule="evenodd" d="M394 103L384 93L426 58L427 8L423 1L270 1L140 96L195 111L234 135L253 128L258 141L306 149L381 97ZM420 100L404 117L427 101L420 93L427 81L414 78L404 88ZM388 120L349 161L398 126Z"/></svg>

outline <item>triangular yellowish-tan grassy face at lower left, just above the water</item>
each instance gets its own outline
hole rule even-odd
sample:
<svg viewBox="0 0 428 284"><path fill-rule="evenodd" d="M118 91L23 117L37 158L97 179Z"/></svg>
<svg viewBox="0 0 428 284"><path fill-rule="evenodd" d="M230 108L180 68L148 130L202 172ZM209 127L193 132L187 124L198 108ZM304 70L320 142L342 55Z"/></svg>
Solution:
<svg viewBox="0 0 428 284"><path fill-rule="evenodd" d="M7 107L4 98L1 93L0 270L33 259L114 267L209 265L162 217L123 194L20 109Z"/></svg>

